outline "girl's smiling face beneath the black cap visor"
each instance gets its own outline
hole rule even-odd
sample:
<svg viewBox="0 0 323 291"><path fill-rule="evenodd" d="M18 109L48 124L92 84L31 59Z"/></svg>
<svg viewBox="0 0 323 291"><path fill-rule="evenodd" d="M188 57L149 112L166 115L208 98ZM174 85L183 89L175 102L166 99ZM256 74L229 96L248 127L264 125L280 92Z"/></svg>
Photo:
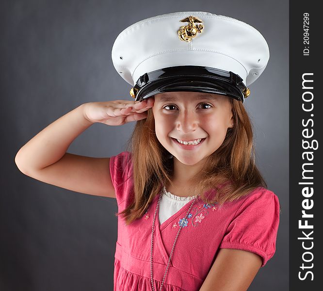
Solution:
<svg viewBox="0 0 323 291"><path fill-rule="evenodd" d="M222 95L160 93L155 95L152 110L161 145L186 165L194 165L216 151L227 129L233 127L229 97Z"/></svg>

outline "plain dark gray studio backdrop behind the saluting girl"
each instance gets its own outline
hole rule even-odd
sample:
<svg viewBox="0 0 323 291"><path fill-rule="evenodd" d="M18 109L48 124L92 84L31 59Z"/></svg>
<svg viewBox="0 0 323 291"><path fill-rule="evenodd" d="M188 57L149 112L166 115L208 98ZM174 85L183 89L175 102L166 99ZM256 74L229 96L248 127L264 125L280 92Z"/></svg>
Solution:
<svg viewBox="0 0 323 291"><path fill-rule="evenodd" d="M279 197L276 253L248 290L288 290L289 6L271 1L1 1L0 290L113 290L117 238L114 199L68 191L23 175L21 146L82 103L128 99L114 70L113 41L141 19L177 11L208 11L255 26L270 60L251 85L245 107L255 127L257 162ZM94 124L68 152L116 155L134 123Z"/></svg>

